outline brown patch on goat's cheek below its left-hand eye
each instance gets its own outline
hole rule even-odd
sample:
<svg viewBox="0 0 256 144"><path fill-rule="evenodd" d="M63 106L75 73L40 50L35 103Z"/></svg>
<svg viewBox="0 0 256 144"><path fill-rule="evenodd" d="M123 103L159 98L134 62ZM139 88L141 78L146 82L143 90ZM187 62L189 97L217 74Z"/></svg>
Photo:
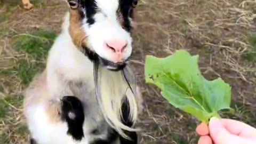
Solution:
<svg viewBox="0 0 256 144"><path fill-rule="evenodd" d="M69 18L69 34L72 38L73 43L82 48L83 45L86 45L86 35L82 29L82 18L78 10L70 9L70 18Z"/></svg>

